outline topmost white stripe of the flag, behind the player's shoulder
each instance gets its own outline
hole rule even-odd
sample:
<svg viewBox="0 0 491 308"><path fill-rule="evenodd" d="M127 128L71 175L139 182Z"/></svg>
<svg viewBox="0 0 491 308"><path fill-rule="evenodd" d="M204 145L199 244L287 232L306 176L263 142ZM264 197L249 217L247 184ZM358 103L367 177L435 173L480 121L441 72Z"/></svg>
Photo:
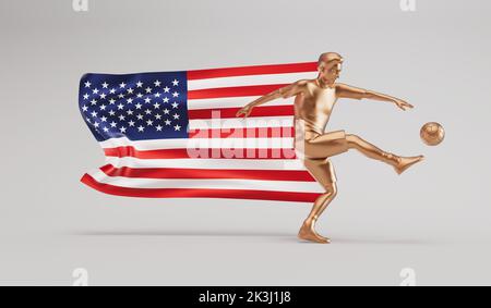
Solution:
<svg viewBox="0 0 491 308"><path fill-rule="evenodd" d="M315 72L219 77L219 78L188 81L188 89L196 90L207 88L291 84L300 79L312 79L312 78L315 78Z"/></svg>

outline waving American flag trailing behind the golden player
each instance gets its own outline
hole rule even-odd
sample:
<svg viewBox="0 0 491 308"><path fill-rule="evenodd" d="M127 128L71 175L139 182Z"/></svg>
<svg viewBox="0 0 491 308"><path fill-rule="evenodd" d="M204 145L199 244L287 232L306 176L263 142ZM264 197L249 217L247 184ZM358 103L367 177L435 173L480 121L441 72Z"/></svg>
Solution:
<svg viewBox="0 0 491 308"><path fill-rule="evenodd" d="M294 149L294 100L243 106L298 79L316 63L128 75L86 74L80 110L106 164L82 182L144 198L312 202L323 188Z"/></svg>

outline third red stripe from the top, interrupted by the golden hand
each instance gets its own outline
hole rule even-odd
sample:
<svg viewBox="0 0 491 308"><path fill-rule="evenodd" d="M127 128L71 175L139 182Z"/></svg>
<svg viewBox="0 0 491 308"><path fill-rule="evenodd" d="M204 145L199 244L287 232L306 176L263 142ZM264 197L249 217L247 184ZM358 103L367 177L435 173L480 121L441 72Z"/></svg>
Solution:
<svg viewBox="0 0 491 308"><path fill-rule="evenodd" d="M221 109L197 109L189 110L190 120L217 119L217 118L237 118L237 112L241 108L221 108ZM255 116L288 116L294 115L294 106L264 106L252 110L251 118Z"/></svg>

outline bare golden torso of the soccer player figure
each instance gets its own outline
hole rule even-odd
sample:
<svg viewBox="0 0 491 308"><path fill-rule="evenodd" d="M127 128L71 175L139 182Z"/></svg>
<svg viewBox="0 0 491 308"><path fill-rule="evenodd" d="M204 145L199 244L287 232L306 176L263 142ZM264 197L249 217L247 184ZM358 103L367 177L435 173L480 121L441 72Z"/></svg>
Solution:
<svg viewBox="0 0 491 308"><path fill-rule="evenodd" d="M306 131L323 134L336 103L336 88L321 88L315 81L307 83L295 99L295 118L303 120Z"/></svg>

